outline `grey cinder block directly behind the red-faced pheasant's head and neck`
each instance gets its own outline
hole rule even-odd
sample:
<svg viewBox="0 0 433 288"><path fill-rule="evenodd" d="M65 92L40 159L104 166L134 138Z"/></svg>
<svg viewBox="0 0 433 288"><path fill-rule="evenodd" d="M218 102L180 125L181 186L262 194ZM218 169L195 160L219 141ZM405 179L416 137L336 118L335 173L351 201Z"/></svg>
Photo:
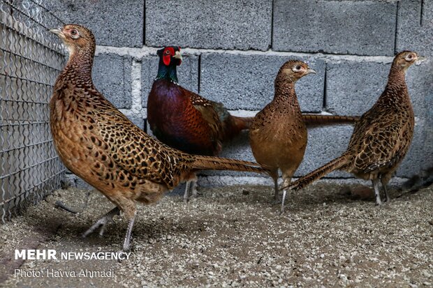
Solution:
<svg viewBox="0 0 433 288"><path fill-rule="evenodd" d="M181 51L182 52L182 51ZM177 67L177 79L179 85L193 91L198 92L198 56L182 54L183 61ZM141 82L142 82L142 105L147 107L147 97L152 89L154 79L158 74L158 56L146 56L142 58L141 66Z"/></svg>

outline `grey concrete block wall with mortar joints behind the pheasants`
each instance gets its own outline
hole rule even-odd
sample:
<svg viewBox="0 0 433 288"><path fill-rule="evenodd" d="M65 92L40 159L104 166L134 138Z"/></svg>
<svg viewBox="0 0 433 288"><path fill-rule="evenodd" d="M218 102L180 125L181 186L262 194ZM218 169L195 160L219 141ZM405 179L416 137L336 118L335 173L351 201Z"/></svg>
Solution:
<svg viewBox="0 0 433 288"><path fill-rule="evenodd" d="M96 86L144 129L156 50L163 45L182 47L182 86L244 116L272 100L279 67L294 58L318 71L296 86L304 112L360 115L383 91L393 55L419 52L430 59L407 75L416 132L397 176L408 177L432 165L433 1L59 0L52 10L65 22L94 31ZM351 132L351 126L310 129L296 175L339 156ZM221 156L254 160L247 133L226 144ZM251 176L203 175L243 176L235 181ZM351 175L335 172L330 177Z"/></svg>

